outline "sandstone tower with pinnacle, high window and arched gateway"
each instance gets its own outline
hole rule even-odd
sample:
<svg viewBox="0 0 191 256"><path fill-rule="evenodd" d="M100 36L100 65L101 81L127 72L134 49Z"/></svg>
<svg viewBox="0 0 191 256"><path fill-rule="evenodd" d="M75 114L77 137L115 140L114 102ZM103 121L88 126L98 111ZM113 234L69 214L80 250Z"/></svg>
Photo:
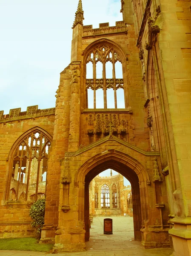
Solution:
<svg viewBox="0 0 191 256"><path fill-rule="evenodd" d="M122 1L122 12L123 21L117 21L116 26L101 23L98 29L83 26L81 0L75 14L71 63L60 74L56 96L41 238L55 237L57 251L86 247L89 183L108 168L131 182L135 239L148 248L169 246L165 182L160 173L160 153L151 144L147 125L130 1ZM109 77L108 63L112 70ZM120 77L116 64L121 66ZM108 108L109 92L113 93L113 108ZM123 108L119 108L118 92L123 93ZM103 108L97 108L101 100Z"/></svg>

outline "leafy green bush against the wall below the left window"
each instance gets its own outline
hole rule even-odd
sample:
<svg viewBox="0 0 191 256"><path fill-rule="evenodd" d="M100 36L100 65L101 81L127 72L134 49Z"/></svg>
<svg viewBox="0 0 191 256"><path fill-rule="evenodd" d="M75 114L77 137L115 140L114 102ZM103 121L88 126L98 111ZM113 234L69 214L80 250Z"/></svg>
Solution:
<svg viewBox="0 0 191 256"><path fill-rule="evenodd" d="M37 229L37 232L40 233L43 224L44 224L44 215L45 215L45 199L39 199L34 204L31 205L29 216L33 220L31 226Z"/></svg>

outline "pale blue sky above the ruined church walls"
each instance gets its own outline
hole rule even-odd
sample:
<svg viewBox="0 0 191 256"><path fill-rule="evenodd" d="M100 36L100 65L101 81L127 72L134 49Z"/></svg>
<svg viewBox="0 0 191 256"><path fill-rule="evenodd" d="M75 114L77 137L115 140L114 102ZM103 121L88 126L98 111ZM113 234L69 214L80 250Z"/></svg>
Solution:
<svg viewBox="0 0 191 256"><path fill-rule="evenodd" d="M0 110L55 106L78 0L0 0ZM120 0L83 0L84 25L123 20Z"/></svg>

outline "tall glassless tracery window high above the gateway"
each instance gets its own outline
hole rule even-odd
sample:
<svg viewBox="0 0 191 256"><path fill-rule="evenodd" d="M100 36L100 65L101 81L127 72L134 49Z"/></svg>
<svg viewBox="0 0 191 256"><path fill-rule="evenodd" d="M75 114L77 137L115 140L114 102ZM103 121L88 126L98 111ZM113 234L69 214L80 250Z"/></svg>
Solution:
<svg viewBox="0 0 191 256"><path fill-rule="evenodd" d="M122 63L112 47L105 44L91 50L86 61L86 90L88 108L125 108Z"/></svg>

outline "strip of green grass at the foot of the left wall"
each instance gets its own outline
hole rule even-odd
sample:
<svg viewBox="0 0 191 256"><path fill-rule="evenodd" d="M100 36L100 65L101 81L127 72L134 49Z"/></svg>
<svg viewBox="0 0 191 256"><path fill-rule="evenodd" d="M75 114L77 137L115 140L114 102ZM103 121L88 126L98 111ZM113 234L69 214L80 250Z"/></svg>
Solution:
<svg viewBox="0 0 191 256"><path fill-rule="evenodd" d="M35 252L48 252L53 244L39 244L36 238L5 238L0 239L0 250L27 250Z"/></svg>

